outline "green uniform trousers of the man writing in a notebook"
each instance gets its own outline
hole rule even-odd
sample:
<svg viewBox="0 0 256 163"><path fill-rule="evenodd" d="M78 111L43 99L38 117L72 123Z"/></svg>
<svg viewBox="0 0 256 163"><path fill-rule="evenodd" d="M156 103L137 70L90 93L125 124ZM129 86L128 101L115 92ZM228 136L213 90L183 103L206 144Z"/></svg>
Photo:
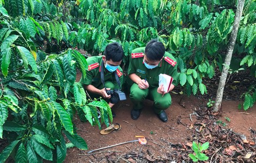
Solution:
<svg viewBox="0 0 256 163"><path fill-rule="evenodd" d="M154 111L159 114L162 110L167 109L172 104L172 97L169 93L163 95L157 92L157 87L142 90L138 84L134 83L130 89L130 98L134 104L134 109L139 110L143 108L143 99L150 99L154 101Z"/></svg>

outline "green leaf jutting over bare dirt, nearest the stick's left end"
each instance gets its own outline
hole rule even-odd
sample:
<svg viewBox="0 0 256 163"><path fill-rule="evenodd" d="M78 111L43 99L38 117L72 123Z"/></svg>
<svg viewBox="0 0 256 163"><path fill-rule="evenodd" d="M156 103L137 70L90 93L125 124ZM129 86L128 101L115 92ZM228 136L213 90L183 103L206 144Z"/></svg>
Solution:
<svg viewBox="0 0 256 163"><path fill-rule="evenodd" d="M83 138L77 134L70 135L67 131L64 131L66 137L70 140L71 143L73 143L77 148L82 150L87 150L87 143L83 140Z"/></svg>

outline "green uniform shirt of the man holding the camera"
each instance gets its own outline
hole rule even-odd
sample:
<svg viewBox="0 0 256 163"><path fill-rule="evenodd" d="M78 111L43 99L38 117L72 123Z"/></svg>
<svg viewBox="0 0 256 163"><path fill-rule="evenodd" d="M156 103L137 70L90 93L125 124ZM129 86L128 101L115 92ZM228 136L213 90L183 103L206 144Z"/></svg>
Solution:
<svg viewBox="0 0 256 163"><path fill-rule="evenodd" d="M88 63L88 70L86 71L86 78L84 79L83 77L80 80L80 83L84 85L93 85L97 89L103 88L102 87L102 82L100 78L100 67L102 65L102 55L101 56L95 56L95 57L89 57L87 58L87 63ZM117 69L117 74L120 80L120 86L123 84L123 70L121 69L120 66L118 66ZM115 79L115 74L112 72L109 72L106 70L104 67L104 80L105 82L109 81L114 84L114 89L119 89L117 80ZM121 88L120 88L121 89Z"/></svg>

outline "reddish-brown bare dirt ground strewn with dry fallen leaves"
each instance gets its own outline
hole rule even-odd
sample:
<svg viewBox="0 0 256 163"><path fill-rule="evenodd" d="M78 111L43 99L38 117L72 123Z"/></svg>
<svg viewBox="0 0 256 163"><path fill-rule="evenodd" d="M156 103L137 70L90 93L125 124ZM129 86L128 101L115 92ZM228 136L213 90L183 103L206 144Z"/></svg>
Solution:
<svg viewBox="0 0 256 163"><path fill-rule="evenodd" d="M208 89L216 91L217 87ZM233 91L227 86L225 92ZM192 162L188 154L193 153L193 141L210 143L209 149L204 152L209 156L205 162L256 162L255 105L247 111L239 110L237 98L225 93L220 114L212 115L211 109L206 107L211 94L200 97L171 95L172 105L166 110L167 123L157 118L153 102L148 100L144 101L138 120L132 120L129 98L113 108L117 114L113 123L119 123L121 129L107 135L101 135L98 127L74 118L77 133L87 141L88 150L68 149L65 162ZM236 100L226 101L226 97L230 96ZM137 140L136 135L145 136L147 145L131 142L88 154L94 149ZM246 159L246 154L248 156L250 152L250 158Z"/></svg>

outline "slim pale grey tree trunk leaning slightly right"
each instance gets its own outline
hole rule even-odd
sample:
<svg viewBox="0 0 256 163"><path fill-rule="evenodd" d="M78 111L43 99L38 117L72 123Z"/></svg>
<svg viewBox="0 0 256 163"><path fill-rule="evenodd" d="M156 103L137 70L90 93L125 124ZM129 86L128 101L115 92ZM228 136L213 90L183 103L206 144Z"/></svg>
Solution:
<svg viewBox="0 0 256 163"><path fill-rule="evenodd" d="M221 73L220 82L218 84L218 90L217 90L217 95L216 95L214 110L213 110L214 112L219 111L219 109L221 108L224 86L225 86L225 82L226 82L226 79L227 79L227 76L228 76L229 65L230 65L230 61L231 61L231 58L232 58L232 53L233 53L234 46L235 46L237 31L238 31L238 28L239 28L240 18L242 16L242 10L243 10L243 5L244 4L245 4L245 0L238 0L234 25L233 25L233 29L232 29L229 44L228 44L228 52L227 52L227 56L225 58L223 70L222 70L222 73Z"/></svg>

